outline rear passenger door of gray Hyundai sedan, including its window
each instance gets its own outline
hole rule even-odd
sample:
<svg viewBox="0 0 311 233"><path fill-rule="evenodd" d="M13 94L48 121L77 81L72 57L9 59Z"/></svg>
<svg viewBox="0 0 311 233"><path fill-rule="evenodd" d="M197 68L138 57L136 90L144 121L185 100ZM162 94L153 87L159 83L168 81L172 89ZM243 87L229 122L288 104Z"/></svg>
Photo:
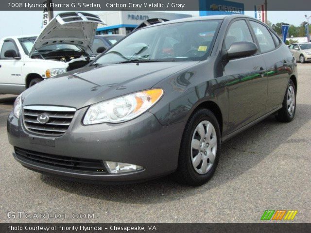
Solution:
<svg viewBox="0 0 311 233"><path fill-rule="evenodd" d="M253 20L249 20L249 22L258 40L259 49L267 67L268 95L266 112L268 113L279 107L284 99L293 56L266 25Z"/></svg>

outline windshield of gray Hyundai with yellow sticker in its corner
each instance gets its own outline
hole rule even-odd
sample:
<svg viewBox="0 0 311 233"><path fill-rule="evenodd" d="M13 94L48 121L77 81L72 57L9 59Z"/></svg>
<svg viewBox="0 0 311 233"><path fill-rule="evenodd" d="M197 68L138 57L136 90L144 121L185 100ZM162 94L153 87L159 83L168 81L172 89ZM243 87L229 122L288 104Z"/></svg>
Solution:
<svg viewBox="0 0 311 233"><path fill-rule="evenodd" d="M95 64L131 61L198 61L207 58L221 20L202 20L147 27L130 34Z"/></svg>

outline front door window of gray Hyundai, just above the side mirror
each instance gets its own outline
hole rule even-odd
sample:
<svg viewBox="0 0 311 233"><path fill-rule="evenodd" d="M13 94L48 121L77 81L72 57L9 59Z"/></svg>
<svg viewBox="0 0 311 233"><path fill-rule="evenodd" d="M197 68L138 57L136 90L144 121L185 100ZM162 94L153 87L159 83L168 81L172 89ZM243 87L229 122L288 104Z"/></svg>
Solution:
<svg viewBox="0 0 311 233"><path fill-rule="evenodd" d="M245 20L238 20L230 25L225 36L225 48L229 49L234 42L239 41L253 42L252 35L248 30Z"/></svg>

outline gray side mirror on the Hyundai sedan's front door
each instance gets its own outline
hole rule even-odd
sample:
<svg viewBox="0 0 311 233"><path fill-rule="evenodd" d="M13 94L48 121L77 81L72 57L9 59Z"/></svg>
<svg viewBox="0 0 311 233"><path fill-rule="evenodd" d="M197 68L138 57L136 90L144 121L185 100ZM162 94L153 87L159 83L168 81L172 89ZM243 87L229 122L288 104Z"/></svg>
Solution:
<svg viewBox="0 0 311 233"><path fill-rule="evenodd" d="M234 58L242 58L254 55L257 52L257 45L249 41L234 42L228 50L226 50L226 58L228 60Z"/></svg>

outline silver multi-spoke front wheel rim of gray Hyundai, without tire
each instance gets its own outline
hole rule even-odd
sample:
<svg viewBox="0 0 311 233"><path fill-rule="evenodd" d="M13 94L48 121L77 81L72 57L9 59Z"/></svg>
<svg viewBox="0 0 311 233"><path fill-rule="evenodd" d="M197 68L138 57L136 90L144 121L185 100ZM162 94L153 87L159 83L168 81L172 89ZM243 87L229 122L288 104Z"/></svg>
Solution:
<svg viewBox="0 0 311 233"><path fill-rule="evenodd" d="M207 120L195 128L191 141L191 162L195 171L206 174L213 166L217 152L217 135L214 126Z"/></svg>

